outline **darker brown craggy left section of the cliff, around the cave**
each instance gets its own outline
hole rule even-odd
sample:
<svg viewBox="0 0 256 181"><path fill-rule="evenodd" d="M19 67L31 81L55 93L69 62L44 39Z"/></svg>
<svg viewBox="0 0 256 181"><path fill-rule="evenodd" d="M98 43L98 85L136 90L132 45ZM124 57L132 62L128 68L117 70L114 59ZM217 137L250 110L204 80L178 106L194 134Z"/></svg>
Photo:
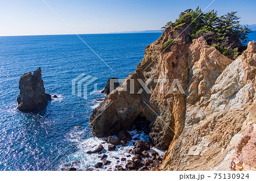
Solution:
<svg viewBox="0 0 256 181"><path fill-rule="evenodd" d="M178 34L177 34L178 35ZM105 101L100 104L90 117L93 134L98 137L118 134L119 131L128 130L139 120L149 128L151 141L157 148L167 149L174 132L179 131L184 122L185 116L185 94L168 94L174 79L178 79L183 89L188 83L188 52L189 47L184 39L175 41L162 56L162 43L168 37L174 37L172 31L164 32L164 35L155 43L148 45L145 56L138 64L137 70L131 73L112 94L109 94ZM182 74L180 74L182 72ZM154 79L168 78L169 83L160 89L160 82ZM134 79L134 90L131 92L132 79ZM151 91L142 91L142 85L138 81L146 82ZM129 91L123 91L123 90ZM164 94L162 94L162 91ZM141 92L140 94L137 94ZM148 105L148 106L147 106ZM160 115L158 117L152 110ZM95 119L95 120L94 120ZM167 121L167 124L162 121ZM175 126L176 121L176 126Z"/></svg>

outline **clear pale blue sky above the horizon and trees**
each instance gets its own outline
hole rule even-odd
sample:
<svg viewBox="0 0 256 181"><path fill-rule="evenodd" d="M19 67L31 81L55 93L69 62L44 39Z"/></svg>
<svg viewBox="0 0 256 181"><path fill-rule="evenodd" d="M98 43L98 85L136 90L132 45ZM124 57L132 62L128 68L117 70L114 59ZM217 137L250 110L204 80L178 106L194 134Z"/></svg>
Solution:
<svg viewBox="0 0 256 181"><path fill-rule="evenodd" d="M76 33L160 30L181 11L205 9L213 0L82 1L44 0ZM216 0L208 10L238 11L242 24L256 24L255 0ZM56 35L73 32L42 0L0 0L0 36Z"/></svg>

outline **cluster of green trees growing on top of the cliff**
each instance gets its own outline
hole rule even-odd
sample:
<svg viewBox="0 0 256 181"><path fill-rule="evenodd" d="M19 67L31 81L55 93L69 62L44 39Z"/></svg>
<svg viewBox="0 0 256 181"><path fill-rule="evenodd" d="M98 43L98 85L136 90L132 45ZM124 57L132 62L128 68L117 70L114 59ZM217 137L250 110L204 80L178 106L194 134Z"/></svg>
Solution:
<svg viewBox="0 0 256 181"><path fill-rule="evenodd" d="M181 12L175 23L168 22L163 30L172 26L174 30L187 28L188 41L204 36L208 45L216 47L229 58L236 58L246 49L247 34L251 30L240 24L236 11L218 16L217 11L203 12L200 7Z"/></svg>

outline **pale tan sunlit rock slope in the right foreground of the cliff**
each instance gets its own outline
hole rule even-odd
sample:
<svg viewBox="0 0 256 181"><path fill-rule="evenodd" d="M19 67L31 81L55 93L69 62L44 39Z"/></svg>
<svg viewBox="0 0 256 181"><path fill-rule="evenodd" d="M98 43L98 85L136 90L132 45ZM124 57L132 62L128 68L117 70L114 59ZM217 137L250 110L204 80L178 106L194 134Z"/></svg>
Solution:
<svg viewBox="0 0 256 181"><path fill-rule="evenodd" d="M194 83L198 76L191 72L184 129L160 170L255 170L255 48L250 42L240 57L217 70L219 75L205 77L212 81L203 91L205 78ZM204 75L205 63L200 64Z"/></svg>

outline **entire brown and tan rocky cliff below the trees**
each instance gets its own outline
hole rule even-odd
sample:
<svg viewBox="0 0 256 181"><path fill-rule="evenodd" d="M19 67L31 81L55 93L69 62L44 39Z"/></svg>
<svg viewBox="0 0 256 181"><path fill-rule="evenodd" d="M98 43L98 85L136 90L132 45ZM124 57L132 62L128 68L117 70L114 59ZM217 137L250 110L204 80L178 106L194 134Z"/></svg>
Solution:
<svg viewBox="0 0 256 181"><path fill-rule="evenodd" d="M146 47L137 70L93 111L93 134L148 128L167 150L159 170L254 170L256 43L233 61L204 37L189 43L188 31L167 28Z"/></svg>

